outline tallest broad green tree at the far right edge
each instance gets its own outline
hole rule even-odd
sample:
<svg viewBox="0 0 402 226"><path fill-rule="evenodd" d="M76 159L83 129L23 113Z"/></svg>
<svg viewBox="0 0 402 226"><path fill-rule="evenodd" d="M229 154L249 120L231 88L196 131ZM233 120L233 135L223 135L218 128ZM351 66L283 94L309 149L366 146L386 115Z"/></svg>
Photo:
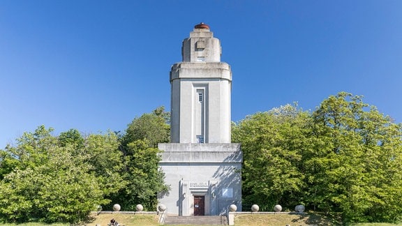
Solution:
<svg viewBox="0 0 402 226"><path fill-rule="evenodd" d="M342 212L347 222L400 220L401 124L345 92L329 96L312 117L314 148L305 161L310 203Z"/></svg>

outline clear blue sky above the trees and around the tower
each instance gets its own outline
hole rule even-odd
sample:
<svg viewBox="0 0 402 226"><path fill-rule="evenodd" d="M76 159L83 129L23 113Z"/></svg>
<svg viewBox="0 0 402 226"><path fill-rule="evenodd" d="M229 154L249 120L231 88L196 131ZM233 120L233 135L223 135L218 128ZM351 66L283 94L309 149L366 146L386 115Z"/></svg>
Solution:
<svg viewBox="0 0 402 226"><path fill-rule="evenodd" d="M170 66L199 22L232 66L232 121L348 91L402 122L401 0L1 0L0 149L42 124L124 131L170 110Z"/></svg>

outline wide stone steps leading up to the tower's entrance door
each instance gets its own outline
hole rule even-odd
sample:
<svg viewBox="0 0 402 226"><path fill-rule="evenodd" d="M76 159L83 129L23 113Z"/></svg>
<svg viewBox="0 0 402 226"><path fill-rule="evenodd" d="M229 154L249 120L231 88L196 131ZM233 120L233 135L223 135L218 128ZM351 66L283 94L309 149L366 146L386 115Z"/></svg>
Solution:
<svg viewBox="0 0 402 226"><path fill-rule="evenodd" d="M164 225L228 225L226 216L168 216Z"/></svg>

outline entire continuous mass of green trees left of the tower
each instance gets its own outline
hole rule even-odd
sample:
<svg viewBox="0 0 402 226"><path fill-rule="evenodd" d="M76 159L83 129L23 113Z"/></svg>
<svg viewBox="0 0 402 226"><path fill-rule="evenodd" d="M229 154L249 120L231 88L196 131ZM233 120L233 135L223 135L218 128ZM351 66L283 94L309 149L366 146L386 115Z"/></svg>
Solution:
<svg viewBox="0 0 402 226"><path fill-rule="evenodd" d="M115 203L153 210L156 193L168 190L156 146L169 140L169 118L158 107L122 136L83 137L75 129L54 136L45 126L24 133L0 150L0 222L77 223Z"/></svg>

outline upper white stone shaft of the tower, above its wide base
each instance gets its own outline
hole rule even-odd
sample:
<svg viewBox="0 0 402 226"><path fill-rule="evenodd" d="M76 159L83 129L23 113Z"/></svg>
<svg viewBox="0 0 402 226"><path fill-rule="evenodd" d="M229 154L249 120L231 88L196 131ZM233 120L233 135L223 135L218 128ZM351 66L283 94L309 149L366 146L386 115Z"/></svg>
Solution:
<svg viewBox="0 0 402 226"><path fill-rule="evenodd" d="M232 72L207 24L183 41L183 61L170 70L172 143L230 143Z"/></svg>

